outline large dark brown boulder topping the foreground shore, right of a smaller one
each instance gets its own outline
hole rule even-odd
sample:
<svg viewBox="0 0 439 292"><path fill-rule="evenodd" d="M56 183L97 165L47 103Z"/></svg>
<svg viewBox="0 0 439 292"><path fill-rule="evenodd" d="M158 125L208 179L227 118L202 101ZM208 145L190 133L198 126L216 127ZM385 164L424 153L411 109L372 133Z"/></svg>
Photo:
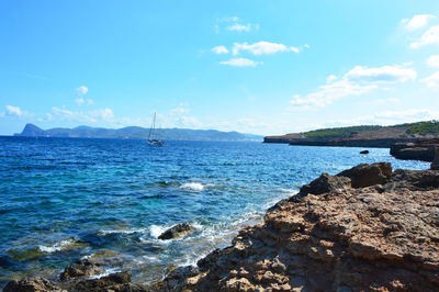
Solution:
<svg viewBox="0 0 439 292"><path fill-rule="evenodd" d="M356 189L374 184L384 184L389 182L391 176L392 165L389 162L373 165L362 164L337 175L337 177L350 178L351 186Z"/></svg>

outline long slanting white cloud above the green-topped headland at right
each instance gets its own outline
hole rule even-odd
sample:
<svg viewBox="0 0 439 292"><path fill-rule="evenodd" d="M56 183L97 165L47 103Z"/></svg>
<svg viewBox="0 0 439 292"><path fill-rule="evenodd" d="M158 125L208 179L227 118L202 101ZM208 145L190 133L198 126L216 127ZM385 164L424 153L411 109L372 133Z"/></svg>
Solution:
<svg viewBox="0 0 439 292"><path fill-rule="evenodd" d="M311 110L324 108L345 97L356 97L379 88L382 83L406 82L414 80L416 71L402 66L368 68L356 66L340 79L330 75L326 85L305 97L294 96L290 110Z"/></svg>

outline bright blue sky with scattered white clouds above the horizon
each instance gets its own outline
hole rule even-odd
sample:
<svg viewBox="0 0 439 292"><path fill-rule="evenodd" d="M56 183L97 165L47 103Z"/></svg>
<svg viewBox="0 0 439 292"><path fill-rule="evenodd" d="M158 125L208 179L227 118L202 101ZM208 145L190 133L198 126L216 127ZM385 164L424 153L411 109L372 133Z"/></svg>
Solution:
<svg viewBox="0 0 439 292"><path fill-rule="evenodd" d="M1 1L0 135L439 120L439 1Z"/></svg>

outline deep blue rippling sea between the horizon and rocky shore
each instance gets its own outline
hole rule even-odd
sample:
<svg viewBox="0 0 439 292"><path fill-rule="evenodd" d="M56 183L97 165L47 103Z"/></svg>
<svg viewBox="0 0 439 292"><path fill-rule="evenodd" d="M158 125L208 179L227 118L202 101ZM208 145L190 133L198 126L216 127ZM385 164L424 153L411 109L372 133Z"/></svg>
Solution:
<svg viewBox="0 0 439 292"><path fill-rule="evenodd" d="M8 279L55 277L80 257L135 281L159 279L224 247L245 224L320 172L360 162L427 169L389 149L261 143L0 137L0 287ZM161 242L190 222L191 236Z"/></svg>

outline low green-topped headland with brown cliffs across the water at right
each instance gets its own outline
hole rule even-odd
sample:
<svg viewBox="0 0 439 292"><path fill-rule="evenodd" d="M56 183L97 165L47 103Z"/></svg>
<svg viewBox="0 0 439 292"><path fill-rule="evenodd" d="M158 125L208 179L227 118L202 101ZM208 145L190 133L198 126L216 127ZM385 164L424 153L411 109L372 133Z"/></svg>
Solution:
<svg viewBox="0 0 439 292"><path fill-rule="evenodd" d="M281 136L266 136L264 143L307 146L347 146L389 148L395 143L439 138L439 121L407 123L392 126L361 125L322 128Z"/></svg>

